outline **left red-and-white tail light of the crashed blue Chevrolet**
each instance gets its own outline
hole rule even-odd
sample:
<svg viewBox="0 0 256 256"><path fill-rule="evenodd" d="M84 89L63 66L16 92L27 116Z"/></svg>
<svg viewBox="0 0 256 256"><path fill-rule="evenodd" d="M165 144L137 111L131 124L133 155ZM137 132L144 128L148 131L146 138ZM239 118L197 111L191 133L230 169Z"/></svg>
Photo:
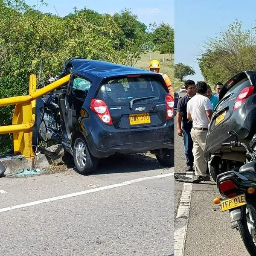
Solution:
<svg viewBox="0 0 256 256"><path fill-rule="evenodd" d="M107 104L102 99L92 99L90 108L107 125L112 125L112 117Z"/></svg>

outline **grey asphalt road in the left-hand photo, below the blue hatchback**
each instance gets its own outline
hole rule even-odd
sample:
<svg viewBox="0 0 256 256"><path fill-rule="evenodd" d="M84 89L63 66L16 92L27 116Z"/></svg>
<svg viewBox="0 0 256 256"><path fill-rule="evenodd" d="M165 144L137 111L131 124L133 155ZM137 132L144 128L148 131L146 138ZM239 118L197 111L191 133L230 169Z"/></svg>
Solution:
<svg viewBox="0 0 256 256"><path fill-rule="evenodd" d="M173 172L134 154L102 160L90 176L3 177L0 255L171 256Z"/></svg>

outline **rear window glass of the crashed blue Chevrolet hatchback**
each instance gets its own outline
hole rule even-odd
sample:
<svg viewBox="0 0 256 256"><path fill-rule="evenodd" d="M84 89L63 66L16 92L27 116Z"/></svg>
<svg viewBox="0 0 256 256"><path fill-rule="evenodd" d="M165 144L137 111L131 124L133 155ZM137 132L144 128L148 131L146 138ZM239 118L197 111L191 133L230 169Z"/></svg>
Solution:
<svg viewBox="0 0 256 256"><path fill-rule="evenodd" d="M97 94L108 105L128 104L132 99L154 96L153 99L165 100L164 85L153 77L130 77L105 81Z"/></svg>

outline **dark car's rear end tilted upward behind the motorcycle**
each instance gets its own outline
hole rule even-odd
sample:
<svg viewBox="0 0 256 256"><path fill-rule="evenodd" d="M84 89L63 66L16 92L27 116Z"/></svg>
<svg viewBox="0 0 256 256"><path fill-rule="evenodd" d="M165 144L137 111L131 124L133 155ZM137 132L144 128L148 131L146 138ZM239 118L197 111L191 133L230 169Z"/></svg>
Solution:
<svg viewBox="0 0 256 256"><path fill-rule="evenodd" d="M255 71L239 73L224 84L206 138L204 155L207 160L211 154L216 156L213 165L219 166L217 162L223 163L223 160L229 163L245 160L243 148L222 147L221 144L234 140L236 136L239 141L248 143L256 133L255 84Z"/></svg>

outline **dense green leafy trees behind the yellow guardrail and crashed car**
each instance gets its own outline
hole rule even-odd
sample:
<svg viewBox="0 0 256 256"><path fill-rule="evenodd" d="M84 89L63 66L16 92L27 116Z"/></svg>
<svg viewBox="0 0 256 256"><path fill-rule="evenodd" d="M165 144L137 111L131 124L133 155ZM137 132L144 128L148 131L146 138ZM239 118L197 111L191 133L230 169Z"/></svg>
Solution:
<svg viewBox="0 0 256 256"><path fill-rule="evenodd" d="M111 16L75 9L59 17L39 12L23 0L0 0L0 17L0 98L27 94L29 75L38 75L39 70L38 82L47 84L49 74L58 75L67 58L133 65L148 36L145 25L128 11ZM130 25L137 29L126 31ZM11 123L12 110L0 108L0 125ZM9 135L0 135L2 152L11 143Z"/></svg>

